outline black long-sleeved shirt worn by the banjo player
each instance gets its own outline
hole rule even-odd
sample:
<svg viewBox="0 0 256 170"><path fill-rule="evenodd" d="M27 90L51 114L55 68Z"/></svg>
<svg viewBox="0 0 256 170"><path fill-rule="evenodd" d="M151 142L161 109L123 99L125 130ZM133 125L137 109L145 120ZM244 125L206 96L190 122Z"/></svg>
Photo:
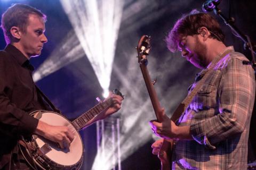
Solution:
<svg viewBox="0 0 256 170"><path fill-rule="evenodd" d="M14 46L0 51L0 169L21 135L31 135L38 120L29 113L51 110L36 90L34 67Z"/></svg>

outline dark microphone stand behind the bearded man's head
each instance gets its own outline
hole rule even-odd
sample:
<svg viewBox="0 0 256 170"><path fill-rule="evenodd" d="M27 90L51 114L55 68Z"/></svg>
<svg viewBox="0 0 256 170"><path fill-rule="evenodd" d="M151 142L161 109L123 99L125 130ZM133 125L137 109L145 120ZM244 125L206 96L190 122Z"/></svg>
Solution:
<svg viewBox="0 0 256 170"><path fill-rule="evenodd" d="M234 25L235 19L234 18L227 18L224 16L221 12L221 10L215 5L213 8L213 11L216 15L219 15L220 18L225 22L226 25L231 29L231 32L238 38L241 38L244 41L244 48L250 49L251 55L252 55L252 61L243 61L243 64L250 64L252 65L254 69L254 73L256 74L256 62L255 62L255 56L256 54L256 46L251 43L250 37L247 35L244 35L241 31L238 30L238 28Z"/></svg>

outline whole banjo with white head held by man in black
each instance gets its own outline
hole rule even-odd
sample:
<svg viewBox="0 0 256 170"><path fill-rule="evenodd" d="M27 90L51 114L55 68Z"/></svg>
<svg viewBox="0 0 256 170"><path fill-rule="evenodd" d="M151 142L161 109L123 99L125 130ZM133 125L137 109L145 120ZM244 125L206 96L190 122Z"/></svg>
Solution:
<svg viewBox="0 0 256 170"><path fill-rule="evenodd" d="M121 92L115 89L114 94L123 97ZM92 118L99 115L102 111L110 107L111 98L95 105L89 111L85 112L73 122L70 122L65 116L51 111L35 111L31 116L40 121L55 126L67 126L74 134L74 140L67 149L61 149L58 143L52 142L39 135L33 134L30 139L19 140L18 146L21 154L33 169L43 170L76 170L81 168L83 162L83 141L78 131L83 129L85 124Z"/></svg>

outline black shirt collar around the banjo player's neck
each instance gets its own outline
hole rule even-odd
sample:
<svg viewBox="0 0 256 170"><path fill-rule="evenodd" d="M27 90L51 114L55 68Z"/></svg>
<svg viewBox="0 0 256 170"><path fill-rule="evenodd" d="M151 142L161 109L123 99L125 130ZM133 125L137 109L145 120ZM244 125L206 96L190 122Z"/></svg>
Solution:
<svg viewBox="0 0 256 170"><path fill-rule="evenodd" d="M30 71L34 71L33 65L30 64L28 58L23 55L19 49L9 44L4 49L7 53L11 54L14 60L16 60L22 67L27 67Z"/></svg>

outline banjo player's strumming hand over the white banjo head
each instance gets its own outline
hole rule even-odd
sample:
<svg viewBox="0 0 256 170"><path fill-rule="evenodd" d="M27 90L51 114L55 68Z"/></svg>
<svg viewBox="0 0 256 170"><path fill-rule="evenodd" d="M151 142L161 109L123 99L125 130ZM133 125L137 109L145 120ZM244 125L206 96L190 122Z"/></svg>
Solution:
<svg viewBox="0 0 256 170"><path fill-rule="evenodd" d="M67 126L53 126L39 120L35 134L57 142L61 149L68 149L74 139L74 134Z"/></svg>

